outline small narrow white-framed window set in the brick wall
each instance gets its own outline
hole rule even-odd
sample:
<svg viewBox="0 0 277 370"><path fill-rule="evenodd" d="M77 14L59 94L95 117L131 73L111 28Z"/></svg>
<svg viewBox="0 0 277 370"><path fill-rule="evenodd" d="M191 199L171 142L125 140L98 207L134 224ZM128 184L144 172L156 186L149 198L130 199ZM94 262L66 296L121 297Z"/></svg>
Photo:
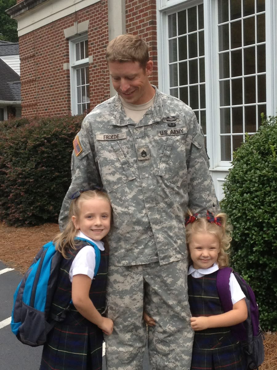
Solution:
<svg viewBox="0 0 277 370"><path fill-rule="evenodd" d="M71 50L71 101L73 114L90 109L88 38L73 40Z"/></svg>

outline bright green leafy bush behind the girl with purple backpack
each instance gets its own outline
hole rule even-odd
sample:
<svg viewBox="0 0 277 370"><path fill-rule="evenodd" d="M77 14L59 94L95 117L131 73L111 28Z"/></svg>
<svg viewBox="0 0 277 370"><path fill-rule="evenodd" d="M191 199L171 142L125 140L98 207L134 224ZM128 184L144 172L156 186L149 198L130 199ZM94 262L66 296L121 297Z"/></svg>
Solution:
<svg viewBox="0 0 277 370"><path fill-rule="evenodd" d="M277 330L277 117L234 153L221 208L233 225L232 267L252 286L264 330Z"/></svg>

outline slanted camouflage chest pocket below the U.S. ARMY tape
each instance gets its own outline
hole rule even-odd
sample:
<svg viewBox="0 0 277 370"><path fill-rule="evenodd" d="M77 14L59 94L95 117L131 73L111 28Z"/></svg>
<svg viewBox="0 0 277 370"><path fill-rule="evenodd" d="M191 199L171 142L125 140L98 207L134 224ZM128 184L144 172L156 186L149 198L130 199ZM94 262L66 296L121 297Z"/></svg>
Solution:
<svg viewBox="0 0 277 370"><path fill-rule="evenodd" d="M184 145L174 139L167 139L161 154L157 175L171 182L171 184L176 186L181 185L181 182L187 178L187 164Z"/></svg>

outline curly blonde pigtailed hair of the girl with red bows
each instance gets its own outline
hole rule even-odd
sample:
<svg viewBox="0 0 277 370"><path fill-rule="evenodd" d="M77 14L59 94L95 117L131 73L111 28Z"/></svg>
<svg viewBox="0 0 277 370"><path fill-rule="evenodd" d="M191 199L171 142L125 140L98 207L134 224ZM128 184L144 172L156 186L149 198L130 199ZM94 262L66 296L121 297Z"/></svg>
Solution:
<svg viewBox="0 0 277 370"><path fill-rule="evenodd" d="M192 213L188 211L188 216L192 216ZM215 222L209 222L206 217L198 217L194 222L188 223L186 226L187 245L191 241L192 235L206 232L215 236L219 241L219 252L218 252L218 267L226 267L229 265L229 248L232 240L231 231L232 226L227 223L226 213L218 213L215 217L220 218L221 226ZM188 249L189 254L189 249ZM189 256L190 258L190 256ZM190 262L192 262L190 260Z"/></svg>

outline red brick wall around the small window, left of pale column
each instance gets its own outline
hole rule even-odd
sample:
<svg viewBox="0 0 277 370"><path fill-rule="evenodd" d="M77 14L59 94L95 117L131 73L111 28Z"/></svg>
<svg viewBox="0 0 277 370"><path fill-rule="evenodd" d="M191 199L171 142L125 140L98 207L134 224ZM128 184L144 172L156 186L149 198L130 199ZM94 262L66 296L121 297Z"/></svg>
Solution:
<svg viewBox="0 0 277 370"><path fill-rule="evenodd" d="M65 115L71 111L68 40L64 29L90 20L88 29L91 108L109 97L105 62L108 43L107 1L100 1L19 39L22 116Z"/></svg>

